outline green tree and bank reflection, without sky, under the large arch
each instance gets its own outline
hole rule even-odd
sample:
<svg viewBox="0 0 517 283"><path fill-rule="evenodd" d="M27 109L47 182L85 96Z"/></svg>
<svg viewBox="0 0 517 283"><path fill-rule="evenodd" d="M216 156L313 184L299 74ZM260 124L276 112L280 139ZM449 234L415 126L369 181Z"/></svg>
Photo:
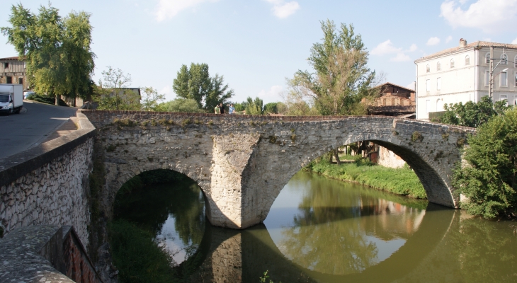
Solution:
<svg viewBox="0 0 517 283"><path fill-rule="evenodd" d="M314 175L298 174L293 183L310 186L294 226L282 231L280 250L318 272L346 275L377 264L379 251L369 236L385 241L408 238L425 213Z"/></svg>

